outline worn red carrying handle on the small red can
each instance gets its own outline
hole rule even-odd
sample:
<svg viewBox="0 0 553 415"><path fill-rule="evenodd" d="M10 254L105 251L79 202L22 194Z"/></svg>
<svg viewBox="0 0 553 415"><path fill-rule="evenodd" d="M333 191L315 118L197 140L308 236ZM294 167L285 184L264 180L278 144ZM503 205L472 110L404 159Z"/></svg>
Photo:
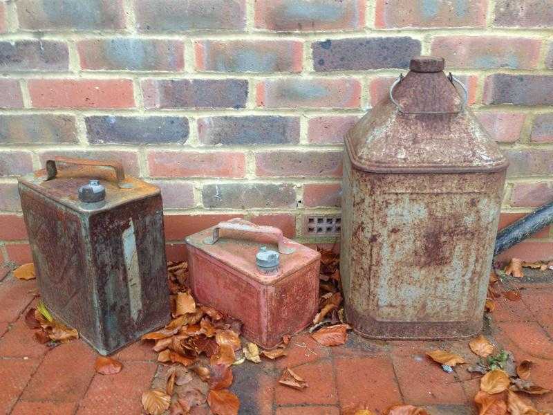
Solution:
<svg viewBox="0 0 553 415"><path fill-rule="evenodd" d="M262 237L267 241L277 243L281 254L291 254L295 248L288 246L284 240L282 230L274 226L255 225L254 223L243 219L231 219L230 221L220 222L213 228L213 236L204 239L203 243L213 245L222 236L221 231L225 231L225 237L231 239L252 240L254 237Z"/></svg>

